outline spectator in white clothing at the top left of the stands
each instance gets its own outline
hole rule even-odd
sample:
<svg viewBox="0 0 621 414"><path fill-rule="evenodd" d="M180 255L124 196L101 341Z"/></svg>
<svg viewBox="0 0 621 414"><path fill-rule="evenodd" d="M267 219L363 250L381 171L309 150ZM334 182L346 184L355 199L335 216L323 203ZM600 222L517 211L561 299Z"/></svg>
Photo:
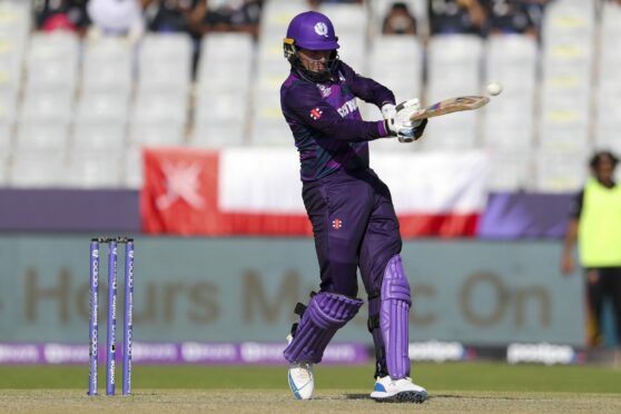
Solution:
<svg viewBox="0 0 621 414"><path fill-rule="evenodd" d="M89 0L89 36L124 36L136 41L145 30L139 0Z"/></svg>

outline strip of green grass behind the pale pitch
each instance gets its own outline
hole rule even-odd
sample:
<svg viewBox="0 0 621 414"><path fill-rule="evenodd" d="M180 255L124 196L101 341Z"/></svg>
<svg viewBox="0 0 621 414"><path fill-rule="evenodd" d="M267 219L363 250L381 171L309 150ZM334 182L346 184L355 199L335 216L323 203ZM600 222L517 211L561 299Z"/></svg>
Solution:
<svg viewBox="0 0 621 414"><path fill-rule="evenodd" d="M103 367L99 384L105 385ZM120 369L119 369L120 371ZM118 373L120 375L120 372ZM317 390L371 390L373 367L317 366ZM621 395L621 369L604 366L507 365L503 363L413 364L415 381L433 390L612 393ZM120 376L117 382L120 384ZM0 388L86 391L87 366L0 366ZM134 388L286 390L284 366L135 365Z"/></svg>

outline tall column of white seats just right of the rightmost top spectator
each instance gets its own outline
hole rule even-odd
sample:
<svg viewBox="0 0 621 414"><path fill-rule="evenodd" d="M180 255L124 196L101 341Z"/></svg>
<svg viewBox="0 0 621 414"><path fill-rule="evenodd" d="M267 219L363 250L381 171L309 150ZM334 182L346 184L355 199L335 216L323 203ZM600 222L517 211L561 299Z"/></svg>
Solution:
<svg viewBox="0 0 621 414"><path fill-rule="evenodd" d="M591 151L591 68L594 3L563 0L548 7L542 28L542 91L536 189L571 190Z"/></svg>

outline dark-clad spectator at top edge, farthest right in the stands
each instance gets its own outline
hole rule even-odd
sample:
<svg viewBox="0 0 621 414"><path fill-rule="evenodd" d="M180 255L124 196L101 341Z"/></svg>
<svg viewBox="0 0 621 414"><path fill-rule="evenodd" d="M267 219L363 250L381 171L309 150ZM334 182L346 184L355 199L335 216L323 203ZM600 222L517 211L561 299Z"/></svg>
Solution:
<svg viewBox="0 0 621 414"><path fill-rule="evenodd" d="M524 0L485 0L490 34L520 33L536 36L538 29Z"/></svg>

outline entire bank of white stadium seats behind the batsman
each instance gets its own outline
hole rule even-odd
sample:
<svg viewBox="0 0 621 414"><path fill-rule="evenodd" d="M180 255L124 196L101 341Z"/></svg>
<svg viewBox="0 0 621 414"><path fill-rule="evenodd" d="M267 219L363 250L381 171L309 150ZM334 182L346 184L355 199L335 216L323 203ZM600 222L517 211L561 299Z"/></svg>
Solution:
<svg viewBox="0 0 621 414"><path fill-rule="evenodd" d="M378 140L374 150L485 149L489 188L503 191L574 190L594 148L621 151L620 7L551 2L540 41L521 34L423 41L424 2L406 3L421 36L381 34L388 0L318 10L337 29L343 60L388 86L397 101L477 93L491 80L504 90L483 110L434 119L416 145ZM136 188L145 146L290 148L279 102L289 70L282 41L306 9L304 0L266 1L256 41L207 34L193 78L194 45L185 34L147 33L135 46L42 33L32 30L28 2L0 2L0 185ZM374 106L358 106L365 119L381 119ZM37 172L27 171L38 161Z"/></svg>

